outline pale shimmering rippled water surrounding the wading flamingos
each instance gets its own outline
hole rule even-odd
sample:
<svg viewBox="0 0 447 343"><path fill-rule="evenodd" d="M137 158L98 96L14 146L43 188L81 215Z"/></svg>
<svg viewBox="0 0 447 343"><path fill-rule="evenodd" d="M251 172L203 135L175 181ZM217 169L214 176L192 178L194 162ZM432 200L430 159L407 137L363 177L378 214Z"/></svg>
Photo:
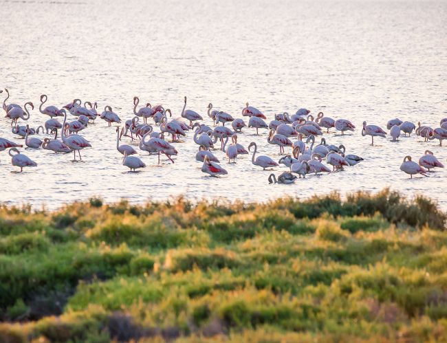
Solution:
<svg viewBox="0 0 447 343"><path fill-rule="evenodd" d="M123 122L133 116L133 96L165 104L176 117L185 95L204 117L208 102L240 116L248 101L269 120L307 107L356 124L353 135L325 136L365 159L342 173L272 186L269 173L244 156L223 162L229 174L216 179L199 170L189 134L177 144L175 164L158 167L156 156L141 153L148 167L133 174L121 165L115 129L97 120L82 133L94 147L83 151L82 163L28 150L39 166L11 173L17 168L1 152L2 202L54 208L91 195L135 202L180 194L263 201L391 186L447 208L446 170L413 180L399 170L405 155L418 159L426 148L445 163L446 146L413 135L400 143L378 138L371 147L360 134L363 120L384 127L399 117L437 127L447 116L446 1L0 1L0 13L0 87L10 89L9 102L39 105L46 93L59 107L81 98L100 109L110 104ZM1 117L0 137L19 141ZM47 119L34 110L29 123ZM254 140L279 159L267 131L253 134L245 129L239 141Z"/></svg>

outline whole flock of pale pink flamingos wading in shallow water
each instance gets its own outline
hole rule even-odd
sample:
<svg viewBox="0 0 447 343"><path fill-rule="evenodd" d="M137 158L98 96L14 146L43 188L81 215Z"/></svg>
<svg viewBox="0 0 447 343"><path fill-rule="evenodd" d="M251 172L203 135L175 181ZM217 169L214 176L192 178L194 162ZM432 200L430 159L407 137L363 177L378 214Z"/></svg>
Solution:
<svg viewBox="0 0 447 343"><path fill-rule="evenodd" d="M3 93L3 90L0 90ZM113 112L112 107L107 105L104 111L98 113L96 102L84 102L75 99L59 109L53 105L47 105L47 96L41 96L41 104L39 112L50 117L45 122L45 127L39 126L34 129L29 124L21 125L21 122L27 122L30 119L30 111L34 110L32 102L26 102L23 107L19 104L8 103L10 93L5 89L6 98L3 101L3 111L6 118L11 121L12 134L24 138L23 144L13 142L6 138L0 137L0 151L9 149L11 163L13 166L20 168L37 166L28 156L19 151L23 145L32 149L46 149L54 151L54 153L76 153L81 158L80 151L84 148L90 148L90 142L80 134L80 131L88 129L95 120L105 120L109 126L113 123L121 124L122 120L117 113ZM242 118L234 118L225 111L217 111L213 109L212 104L208 104L208 117L213 121L213 126L203 124L202 116L191 110L186 109L186 96L184 97L184 107L180 118L172 118L170 109L165 109L161 104L151 106L149 102L138 108L140 99L135 96L133 98L133 119L126 120L124 126L116 127L116 149L123 155L122 164L135 171L138 168L146 167L139 157L135 155L138 152L133 144L120 144L123 137L128 137L131 141L139 141L138 147L141 151L158 155L158 163L160 164L160 155L166 156L174 163L173 156L177 155L174 143L181 143L180 137L185 137L188 131L194 131L193 140L198 146L195 159L203 162L201 171L212 176L226 175L227 171L219 164L216 157L216 151L222 151L228 162L235 162L235 159L242 154L248 154L252 150L252 164L267 170L284 164L290 171L281 173L278 177L270 174L268 181L270 183L292 184L298 177L305 177L307 174L331 173L332 170L342 170L344 166L355 166L362 162L362 157L353 154L346 154L345 146L335 146L328 144L324 137L321 137L320 144L316 145L318 136L323 133L329 133L329 130L340 131L344 135L346 131L354 131L354 126L349 120L326 117L323 112L318 113L316 118L309 114L307 109L298 109L296 113L289 115L288 113L279 113L274 116L274 120L266 122L266 116L259 109L249 106L242 110ZM72 120L67 120L70 115ZM61 117L61 121L58 120ZM149 124L149 120L153 124ZM227 125L226 125L227 124ZM154 127L159 129L155 131ZM257 155L257 144L252 142L247 149L237 142L238 134L243 134L243 130L268 129L267 143L279 146L279 151L283 156L278 162L265 156ZM399 119L392 119L386 124L392 141L399 140L400 135L411 135L415 131L416 135L424 137L424 140L439 140L442 145L443 140L447 140L447 118L439 123L438 128L429 126L421 126L420 122L417 126L413 122L402 122ZM42 130L43 134L51 135L43 140L36 137ZM54 137L53 137L54 135ZM362 135L371 136L371 145L374 144L374 137L386 137L387 133L380 126L362 124ZM168 137L171 140L168 141ZM59 139L60 138L60 139ZM217 143L220 141L219 143ZM230 142L229 142L230 141ZM291 153L285 154L285 149L289 149ZM323 163L325 161L325 163ZM400 170L413 177L413 175L422 174L426 176L427 171L433 168L444 168L443 164L433 155L432 152L426 151L419 158L418 163L414 162L411 156L404 157L404 161L400 166ZM298 176L296 176L298 175Z"/></svg>

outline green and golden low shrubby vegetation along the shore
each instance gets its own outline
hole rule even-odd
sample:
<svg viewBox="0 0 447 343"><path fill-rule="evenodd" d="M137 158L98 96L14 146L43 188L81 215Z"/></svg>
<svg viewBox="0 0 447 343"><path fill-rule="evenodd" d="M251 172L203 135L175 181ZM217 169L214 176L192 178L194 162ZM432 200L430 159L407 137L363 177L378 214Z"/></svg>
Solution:
<svg viewBox="0 0 447 343"><path fill-rule="evenodd" d="M2 207L0 341L445 340L446 222L389 190Z"/></svg>

